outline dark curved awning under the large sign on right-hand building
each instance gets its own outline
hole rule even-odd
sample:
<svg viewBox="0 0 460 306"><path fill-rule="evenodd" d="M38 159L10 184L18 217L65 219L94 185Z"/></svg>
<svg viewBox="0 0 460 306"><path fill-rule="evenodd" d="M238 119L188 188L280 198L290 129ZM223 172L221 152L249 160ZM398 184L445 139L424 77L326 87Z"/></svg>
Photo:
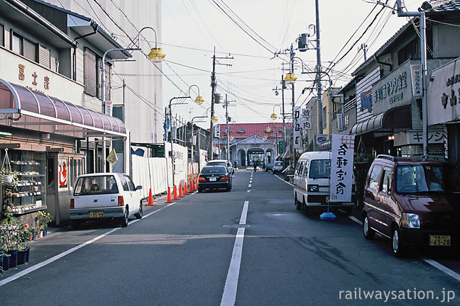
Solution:
<svg viewBox="0 0 460 306"><path fill-rule="evenodd" d="M412 128L410 105L391 108L385 113L373 115L351 128L350 134L362 135L381 128Z"/></svg>

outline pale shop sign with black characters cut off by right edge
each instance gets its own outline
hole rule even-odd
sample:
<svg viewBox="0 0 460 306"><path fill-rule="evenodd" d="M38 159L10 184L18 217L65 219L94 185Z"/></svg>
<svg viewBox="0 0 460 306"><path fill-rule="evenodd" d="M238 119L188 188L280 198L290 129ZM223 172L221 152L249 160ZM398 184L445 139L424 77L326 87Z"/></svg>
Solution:
<svg viewBox="0 0 460 306"><path fill-rule="evenodd" d="M429 125L460 120L460 59L432 72L428 87Z"/></svg>

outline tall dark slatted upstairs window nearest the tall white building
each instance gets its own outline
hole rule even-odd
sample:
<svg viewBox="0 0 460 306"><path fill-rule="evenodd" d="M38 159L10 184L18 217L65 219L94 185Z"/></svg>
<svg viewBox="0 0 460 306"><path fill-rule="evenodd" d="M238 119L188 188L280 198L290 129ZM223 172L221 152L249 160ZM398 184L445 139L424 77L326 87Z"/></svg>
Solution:
<svg viewBox="0 0 460 306"><path fill-rule="evenodd" d="M88 48L84 49L84 92L89 96L97 98L102 97L101 80L102 71L100 69L102 58L97 56ZM106 63L106 100L110 100L110 68L111 65Z"/></svg>

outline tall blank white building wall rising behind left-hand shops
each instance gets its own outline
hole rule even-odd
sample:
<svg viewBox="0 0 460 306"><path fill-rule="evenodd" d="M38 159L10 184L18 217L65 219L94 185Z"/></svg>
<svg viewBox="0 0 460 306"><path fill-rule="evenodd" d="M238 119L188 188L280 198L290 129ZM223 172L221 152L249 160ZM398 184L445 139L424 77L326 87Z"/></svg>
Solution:
<svg viewBox="0 0 460 306"><path fill-rule="evenodd" d="M135 38L138 30L150 26L157 33L157 40L161 42L161 6L160 0L133 1L124 0L99 0L99 4L114 19L116 24L94 1L74 0L46 0L50 4L64 7L75 13L80 13L96 21L107 33L113 33L116 41L123 47L127 47L131 40L121 29L126 31L131 39ZM120 8L117 8L117 6ZM96 13L94 13L96 12ZM124 16L128 17L128 19ZM133 25L131 24L133 23ZM120 28L118 28L118 25ZM154 46L155 33L146 29L142 32L141 48L148 55L150 47L145 40L149 40L150 46ZM96 51L96 50L94 50ZM82 52L80 50L79 52ZM123 103L122 79L126 86L135 91L143 99L138 98L130 89L125 91L125 118L126 128L131 131L132 142L162 142L163 141L163 101L161 101L162 81L161 73L140 51L133 52L136 62L116 62L111 75L112 101L114 104ZM82 57L82 54L79 54ZM161 64L156 64L161 69ZM80 81L83 72L83 61L77 60L77 80ZM121 74L117 77L116 74ZM145 100L145 101L142 101Z"/></svg>

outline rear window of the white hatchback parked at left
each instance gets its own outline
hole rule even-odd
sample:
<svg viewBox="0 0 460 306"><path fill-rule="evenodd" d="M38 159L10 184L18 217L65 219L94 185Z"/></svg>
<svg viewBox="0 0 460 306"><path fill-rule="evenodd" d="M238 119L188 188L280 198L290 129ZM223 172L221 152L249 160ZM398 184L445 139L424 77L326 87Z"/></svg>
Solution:
<svg viewBox="0 0 460 306"><path fill-rule="evenodd" d="M119 193L114 176L82 176L75 186L74 196Z"/></svg>

